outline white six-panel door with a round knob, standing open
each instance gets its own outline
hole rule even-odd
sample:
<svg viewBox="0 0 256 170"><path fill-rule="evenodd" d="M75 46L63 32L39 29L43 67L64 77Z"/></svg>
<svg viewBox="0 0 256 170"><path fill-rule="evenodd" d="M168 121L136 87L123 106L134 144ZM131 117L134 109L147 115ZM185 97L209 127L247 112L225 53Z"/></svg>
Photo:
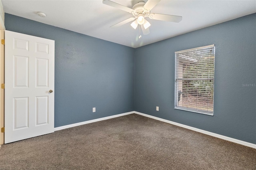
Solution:
<svg viewBox="0 0 256 170"><path fill-rule="evenodd" d="M54 132L54 41L5 31L4 143Z"/></svg>

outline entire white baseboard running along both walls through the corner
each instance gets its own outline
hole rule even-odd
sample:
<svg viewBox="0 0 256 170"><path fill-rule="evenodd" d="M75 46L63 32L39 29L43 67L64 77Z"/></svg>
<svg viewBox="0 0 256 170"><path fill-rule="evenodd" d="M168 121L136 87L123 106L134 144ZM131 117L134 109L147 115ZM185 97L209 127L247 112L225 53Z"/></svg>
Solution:
<svg viewBox="0 0 256 170"><path fill-rule="evenodd" d="M62 130L62 129L65 129L65 128L76 127L76 126L80 126L80 125L85 125L85 124L88 124L88 123L94 123L94 122L98 122L98 121L104 121L104 120L112 119L112 118L115 118L115 117L130 115L130 114L133 114L133 113L138 114L138 115L142 115L142 116L145 116L145 117L149 117L149 118L152 118L152 119L156 119L156 120L158 120L158 121L162 121L162 122L165 122L165 123L170 123L170 124L176 125L176 126L178 126L178 127L183 127L183 128L187 128L187 129L190 129L190 130L194 130L194 131L196 131L196 132L203 133L203 134L208 134L208 135L214 136L214 137L216 137L216 138L228 140L228 141L230 141L230 142L234 142L234 143L237 143L237 144L242 144L242 145L244 145L244 146L248 146L248 147L251 147L251 148L255 148L255 149L256 149L256 144L252 144L252 143L249 143L249 142L244 142L244 141L242 141L242 140L230 138L230 137L228 137L228 136L223 136L223 135L216 134L216 133L213 133L213 132L208 132L208 131L206 131L206 130L202 130L202 129L199 129L199 128L190 127L190 126L187 126L187 125L183 125L183 124L180 124L180 123L168 121L168 120L166 120L166 119L162 119L162 118L159 118L159 117L154 117L154 116L147 115L147 114L140 113L140 112L136 112L136 111L126 112L126 113L122 113L122 114L118 114L118 115L113 115L113 116L108 116L108 117L102 117L102 118L99 118L99 119L93 119L93 120L90 120L90 121L84 121L84 122L80 122L80 123L74 123L74 124L66 125L66 126L62 126L62 127L56 127L56 128L54 128L54 131Z"/></svg>

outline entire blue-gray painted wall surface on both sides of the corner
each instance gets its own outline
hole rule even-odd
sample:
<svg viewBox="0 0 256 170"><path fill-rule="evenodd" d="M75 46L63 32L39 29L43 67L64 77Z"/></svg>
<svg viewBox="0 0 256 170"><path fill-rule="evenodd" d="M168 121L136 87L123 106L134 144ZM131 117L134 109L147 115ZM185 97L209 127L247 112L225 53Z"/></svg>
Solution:
<svg viewBox="0 0 256 170"><path fill-rule="evenodd" d="M5 26L55 40L55 127L138 111L256 144L256 14L136 49L10 14ZM214 116L174 109L174 52L210 44Z"/></svg>

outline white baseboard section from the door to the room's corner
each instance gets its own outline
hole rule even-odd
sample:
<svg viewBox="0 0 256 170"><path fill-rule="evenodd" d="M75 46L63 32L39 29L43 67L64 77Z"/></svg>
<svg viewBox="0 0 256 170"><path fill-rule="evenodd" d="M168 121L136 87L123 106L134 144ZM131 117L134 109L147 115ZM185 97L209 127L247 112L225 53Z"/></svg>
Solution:
<svg viewBox="0 0 256 170"><path fill-rule="evenodd" d="M126 112L126 113L122 113L122 114L118 114L118 115L113 115L113 116L108 116L108 117L102 117L102 118L99 118L99 119L93 119L93 120L90 120L90 121L84 121L84 122L74 123L74 124L65 125L65 126L62 126L62 127L56 127L56 128L54 128L54 131L62 130L62 129L65 129L65 128L76 127L76 126L80 126L80 125L85 125L85 124L88 124L88 123L94 123L94 122L98 122L98 121L104 121L104 120L112 119L112 118L115 118L115 117L130 115L130 114L132 114L132 113L134 113L134 111L132 111L132 112Z"/></svg>

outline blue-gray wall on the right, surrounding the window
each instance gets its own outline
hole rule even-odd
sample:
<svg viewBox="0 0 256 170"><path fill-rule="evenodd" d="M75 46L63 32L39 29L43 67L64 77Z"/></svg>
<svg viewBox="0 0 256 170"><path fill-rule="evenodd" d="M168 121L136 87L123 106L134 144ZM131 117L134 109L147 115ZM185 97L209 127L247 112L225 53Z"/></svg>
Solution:
<svg viewBox="0 0 256 170"><path fill-rule="evenodd" d="M174 52L211 44L214 116L174 109ZM256 14L135 49L134 110L141 113L256 144L255 85Z"/></svg>

